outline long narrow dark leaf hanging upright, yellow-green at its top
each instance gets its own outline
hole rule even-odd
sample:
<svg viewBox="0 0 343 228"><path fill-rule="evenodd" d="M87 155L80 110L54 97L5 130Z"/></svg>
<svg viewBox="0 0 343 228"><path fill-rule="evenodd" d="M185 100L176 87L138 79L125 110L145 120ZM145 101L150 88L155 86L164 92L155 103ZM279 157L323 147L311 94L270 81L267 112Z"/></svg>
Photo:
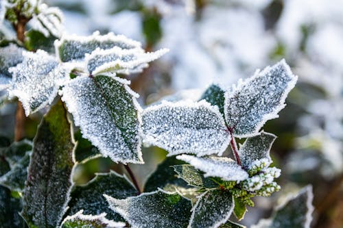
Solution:
<svg viewBox="0 0 343 228"><path fill-rule="evenodd" d="M56 227L69 201L73 140L62 101L43 117L34 138L23 193L23 218L29 227Z"/></svg>

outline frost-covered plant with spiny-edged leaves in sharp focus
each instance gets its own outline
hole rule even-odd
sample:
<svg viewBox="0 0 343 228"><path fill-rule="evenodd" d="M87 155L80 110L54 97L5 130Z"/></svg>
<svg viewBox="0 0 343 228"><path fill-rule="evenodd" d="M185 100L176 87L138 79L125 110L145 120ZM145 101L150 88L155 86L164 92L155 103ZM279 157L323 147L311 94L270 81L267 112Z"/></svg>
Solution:
<svg viewBox="0 0 343 228"><path fill-rule="evenodd" d="M146 52L112 33L60 37L56 18L40 16L56 10L40 1L5 1L1 11L18 38L0 48L1 88L26 116L48 110L33 142L0 140L3 227L242 227L229 220L232 214L241 220L252 197L280 190L274 179L281 170L270 166L276 136L261 127L278 117L296 84L285 60L231 88L211 85L199 101L163 101L143 110L122 75L141 72L167 49ZM32 26L28 41L31 20L45 30ZM48 34L58 37L54 49L46 47ZM75 185L82 161L73 125L96 156L123 164L131 180L111 171ZM246 140L238 148L235 138ZM142 142L169 152L145 192L128 166L143 163ZM229 144L235 160L223 157Z"/></svg>

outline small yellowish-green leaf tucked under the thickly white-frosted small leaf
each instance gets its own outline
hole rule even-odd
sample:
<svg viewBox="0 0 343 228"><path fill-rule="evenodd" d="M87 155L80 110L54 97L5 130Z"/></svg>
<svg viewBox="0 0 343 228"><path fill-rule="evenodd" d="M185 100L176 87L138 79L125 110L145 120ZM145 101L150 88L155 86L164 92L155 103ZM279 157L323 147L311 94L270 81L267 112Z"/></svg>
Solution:
<svg viewBox="0 0 343 228"><path fill-rule="evenodd" d="M205 188L215 188L218 187L218 184L212 181L209 178L204 177L204 173L197 170L191 165L184 164L173 166L174 171L178 174L178 176L191 186L196 187L205 187Z"/></svg>

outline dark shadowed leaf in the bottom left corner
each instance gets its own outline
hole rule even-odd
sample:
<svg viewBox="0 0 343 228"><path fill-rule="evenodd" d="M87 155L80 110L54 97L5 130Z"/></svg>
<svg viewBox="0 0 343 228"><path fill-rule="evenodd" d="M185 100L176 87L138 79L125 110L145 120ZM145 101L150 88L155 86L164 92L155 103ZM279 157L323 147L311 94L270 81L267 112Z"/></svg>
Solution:
<svg viewBox="0 0 343 228"><path fill-rule="evenodd" d="M25 221L20 211L21 200L13 198L8 188L0 186L0 227L23 228Z"/></svg>

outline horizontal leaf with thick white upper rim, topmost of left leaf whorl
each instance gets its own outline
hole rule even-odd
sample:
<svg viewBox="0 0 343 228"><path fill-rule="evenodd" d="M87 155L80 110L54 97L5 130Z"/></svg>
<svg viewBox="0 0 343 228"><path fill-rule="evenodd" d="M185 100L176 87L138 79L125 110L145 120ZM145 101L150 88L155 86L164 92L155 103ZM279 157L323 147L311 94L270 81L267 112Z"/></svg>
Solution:
<svg viewBox="0 0 343 228"><path fill-rule="evenodd" d="M96 31L92 36L62 36L55 41L56 55L62 62L71 60L83 60L86 53L90 54L95 49L111 49L119 47L121 49L141 49L141 43L126 38L122 35L109 33L101 36Z"/></svg>

